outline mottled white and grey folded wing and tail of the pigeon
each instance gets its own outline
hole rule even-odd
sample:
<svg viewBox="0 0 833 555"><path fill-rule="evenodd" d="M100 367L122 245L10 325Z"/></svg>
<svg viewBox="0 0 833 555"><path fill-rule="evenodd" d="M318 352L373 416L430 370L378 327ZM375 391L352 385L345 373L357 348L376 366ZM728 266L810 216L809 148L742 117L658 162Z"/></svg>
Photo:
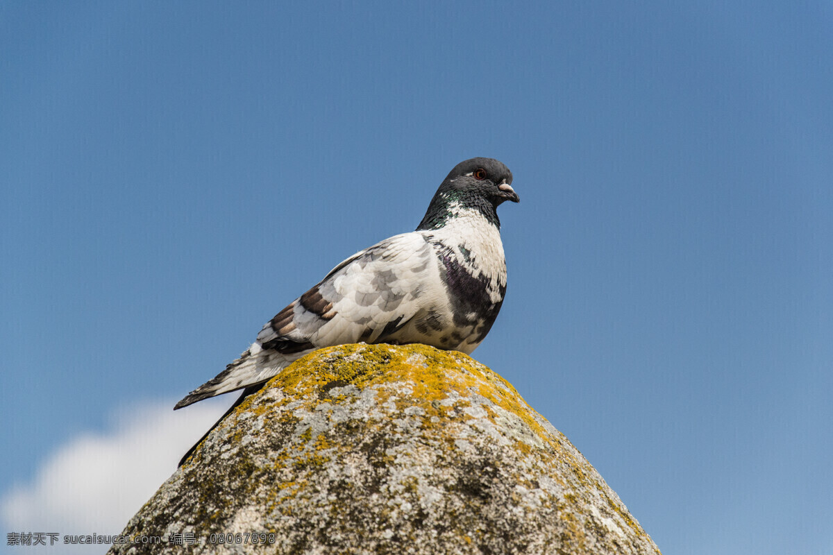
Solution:
<svg viewBox="0 0 833 555"><path fill-rule="evenodd" d="M429 311L436 318L431 306L447 305L444 291L436 255L421 233L383 240L344 260L287 305L263 326L252 347L176 408L261 383L314 349L419 341L416 328L422 326L414 326L415 318Z"/></svg>

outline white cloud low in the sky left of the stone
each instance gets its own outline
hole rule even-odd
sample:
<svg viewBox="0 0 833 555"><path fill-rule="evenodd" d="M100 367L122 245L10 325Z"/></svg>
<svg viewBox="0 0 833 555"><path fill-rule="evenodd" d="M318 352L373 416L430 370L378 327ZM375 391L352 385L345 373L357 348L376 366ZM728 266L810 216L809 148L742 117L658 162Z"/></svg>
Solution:
<svg viewBox="0 0 833 555"><path fill-rule="evenodd" d="M65 534L121 533L232 400L211 399L177 412L171 401L153 401L113 414L109 431L69 439L43 459L30 483L2 494L2 530L57 532L58 542ZM101 553L108 548L101 547ZM48 553L68 553L56 548Z"/></svg>

